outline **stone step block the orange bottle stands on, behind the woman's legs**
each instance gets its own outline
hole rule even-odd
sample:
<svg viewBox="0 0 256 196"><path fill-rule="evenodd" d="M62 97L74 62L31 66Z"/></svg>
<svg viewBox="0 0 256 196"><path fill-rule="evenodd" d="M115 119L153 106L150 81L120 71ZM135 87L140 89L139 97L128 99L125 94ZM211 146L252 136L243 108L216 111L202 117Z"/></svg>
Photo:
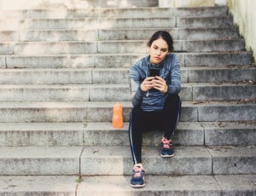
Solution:
<svg viewBox="0 0 256 196"><path fill-rule="evenodd" d="M113 129L111 123L89 123L84 128L84 145L88 147L96 146L130 146L128 135L129 123L125 123L121 129ZM145 133L143 146L158 146L163 132L154 130ZM104 141L102 141L104 138ZM176 134L172 140L178 145L203 145L204 129L196 122L180 122L177 125Z"/></svg>

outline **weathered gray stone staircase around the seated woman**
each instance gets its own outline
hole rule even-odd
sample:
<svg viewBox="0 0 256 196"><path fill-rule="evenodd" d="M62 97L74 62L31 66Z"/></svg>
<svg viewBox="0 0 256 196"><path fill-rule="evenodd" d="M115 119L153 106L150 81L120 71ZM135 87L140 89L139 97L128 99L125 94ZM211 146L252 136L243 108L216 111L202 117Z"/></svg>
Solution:
<svg viewBox="0 0 256 196"><path fill-rule="evenodd" d="M0 195L256 195L256 68L226 7L0 13ZM176 156L143 141L130 187L129 66L153 32L182 71ZM124 107L114 130L112 108Z"/></svg>

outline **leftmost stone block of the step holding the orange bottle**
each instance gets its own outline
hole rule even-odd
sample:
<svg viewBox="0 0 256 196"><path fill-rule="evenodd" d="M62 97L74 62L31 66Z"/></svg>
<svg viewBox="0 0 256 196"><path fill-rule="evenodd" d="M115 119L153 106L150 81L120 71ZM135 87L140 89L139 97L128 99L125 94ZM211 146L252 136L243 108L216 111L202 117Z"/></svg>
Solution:
<svg viewBox="0 0 256 196"><path fill-rule="evenodd" d="M83 123L0 123L1 147L82 147Z"/></svg>

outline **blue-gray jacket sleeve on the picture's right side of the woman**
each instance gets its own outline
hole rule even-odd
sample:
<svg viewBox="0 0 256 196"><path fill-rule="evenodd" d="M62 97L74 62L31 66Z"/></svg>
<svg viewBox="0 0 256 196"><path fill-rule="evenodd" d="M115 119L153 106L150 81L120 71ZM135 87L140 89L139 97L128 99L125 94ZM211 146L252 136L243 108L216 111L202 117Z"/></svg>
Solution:
<svg viewBox="0 0 256 196"><path fill-rule="evenodd" d="M168 85L168 93L169 94L178 94L181 90L181 76L180 76L180 65L177 55L173 56L171 61L171 84Z"/></svg>

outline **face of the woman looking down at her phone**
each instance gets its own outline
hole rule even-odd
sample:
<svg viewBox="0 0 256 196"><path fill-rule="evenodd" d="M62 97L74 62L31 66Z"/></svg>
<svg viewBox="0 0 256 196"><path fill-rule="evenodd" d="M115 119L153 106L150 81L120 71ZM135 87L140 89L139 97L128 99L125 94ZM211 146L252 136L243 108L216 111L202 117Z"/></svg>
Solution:
<svg viewBox="0 0 256 196"><path fill-rule="evenodd" d="M162 38L156 39L149 47L149 61L153 64L160 64L161 61L164 61L168 53L169 51L166 41Z"/></svg>

